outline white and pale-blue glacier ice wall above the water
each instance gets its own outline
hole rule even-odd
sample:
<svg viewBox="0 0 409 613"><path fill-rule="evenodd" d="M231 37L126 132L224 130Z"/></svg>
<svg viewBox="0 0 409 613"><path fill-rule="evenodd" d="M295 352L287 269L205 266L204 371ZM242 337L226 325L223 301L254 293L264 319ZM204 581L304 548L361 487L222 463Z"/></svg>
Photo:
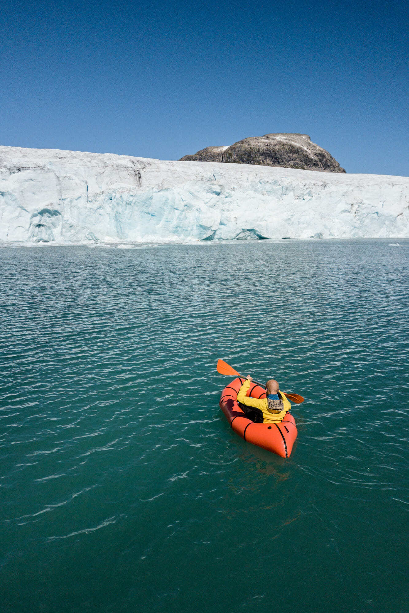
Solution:
<svg viewBox="0 0 409 613"><path fill-rule="evenodd" d="M409 178L0 147L0 242L409 237Z"/></svg>

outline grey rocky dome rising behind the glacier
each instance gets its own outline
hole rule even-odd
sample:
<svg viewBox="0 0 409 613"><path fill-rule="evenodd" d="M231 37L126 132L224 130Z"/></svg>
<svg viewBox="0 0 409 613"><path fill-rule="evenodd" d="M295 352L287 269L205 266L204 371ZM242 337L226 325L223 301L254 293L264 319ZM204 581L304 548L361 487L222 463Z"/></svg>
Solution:
<svg viewBox="0 0 409 613"><path fill-rule="evenodd" d="M308 134L265 134L239 140L230 147L206 147L181 162L257 164L321 172L345 172L328 151L311 142Z"/></svg>

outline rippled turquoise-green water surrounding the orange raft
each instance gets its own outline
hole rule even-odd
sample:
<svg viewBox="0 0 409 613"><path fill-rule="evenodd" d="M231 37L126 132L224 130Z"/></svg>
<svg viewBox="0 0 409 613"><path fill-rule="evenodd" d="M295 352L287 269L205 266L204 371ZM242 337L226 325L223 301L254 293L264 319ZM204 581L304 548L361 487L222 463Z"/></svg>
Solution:
<svg viewBox="0 0 409 613"><path fill-rule="evenodd" d="M407 612L391 242L0 249L1 611ZM288 460L219 357L306 398Z"/></svg>

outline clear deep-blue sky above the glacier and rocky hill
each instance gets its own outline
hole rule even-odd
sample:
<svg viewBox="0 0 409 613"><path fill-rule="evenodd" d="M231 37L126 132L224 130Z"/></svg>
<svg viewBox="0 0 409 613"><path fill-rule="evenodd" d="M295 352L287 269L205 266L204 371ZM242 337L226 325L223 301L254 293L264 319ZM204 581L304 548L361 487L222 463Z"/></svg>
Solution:
<svg viewBox="0 0 409 613"><path fill-rule="evenodd" d="M2 0L0 144L178 159L302 132L409 175L407 1Z"/></svg>

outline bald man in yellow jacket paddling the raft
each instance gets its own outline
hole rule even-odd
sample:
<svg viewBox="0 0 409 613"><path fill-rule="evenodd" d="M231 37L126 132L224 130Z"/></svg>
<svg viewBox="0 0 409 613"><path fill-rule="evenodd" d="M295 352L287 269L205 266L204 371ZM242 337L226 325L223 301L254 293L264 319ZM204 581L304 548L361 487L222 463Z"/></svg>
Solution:
<svg viewBox="0 0 409 613"><path fill-rule="evenodd" d="M251 386L251 382L252 378L250 375L248 375L246 381L244 381L237 394L237 402L241 403L242 405L252 406L255 409L259 409L257 413L260 411L262 412L262 416L259 413L259 419L257 419L259 423L261 422L261 417L263 417L264 424L276 424L281 422L286 416L287 411L290 410L291 405L286 396L281 394L280 390L278 389L277 381L275 379L270 379L267 381L265 384L267 398L262 398L261 400L246 396L247 390L249 390Z"/></svg>

